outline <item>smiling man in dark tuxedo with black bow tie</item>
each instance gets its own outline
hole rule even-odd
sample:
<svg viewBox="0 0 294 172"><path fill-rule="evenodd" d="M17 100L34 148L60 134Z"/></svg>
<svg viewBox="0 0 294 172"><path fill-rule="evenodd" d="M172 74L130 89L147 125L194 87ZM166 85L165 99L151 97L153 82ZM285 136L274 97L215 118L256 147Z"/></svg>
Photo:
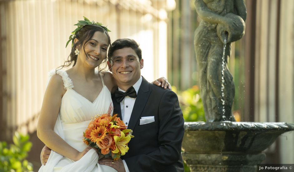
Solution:
<svg viewBox="0 0 294 172"><path fill-rule="evenodd" d="M148 83L141 76L141 49L132 39L114 41L108 53L109 70L119 89L112 95L114 113L133 130L123 161L99 164L124 167L126 171L184 171L181 144L184 119L177 95ZM126 92L126 93L124 93ZM118 170L118 171L124 171Z"/></svg>

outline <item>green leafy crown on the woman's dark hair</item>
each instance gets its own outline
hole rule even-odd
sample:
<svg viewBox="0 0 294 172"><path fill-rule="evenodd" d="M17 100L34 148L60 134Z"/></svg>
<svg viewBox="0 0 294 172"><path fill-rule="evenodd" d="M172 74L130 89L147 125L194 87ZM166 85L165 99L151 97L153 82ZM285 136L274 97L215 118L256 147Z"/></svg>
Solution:
<svg viewBox="0 0 294 172"><path fill-rule="evenodd" d="M84 16L83 16L84 17ZM69 40L67 41L66 45L65 45L65 48L67 47L68 43L70 41L72 41L71 43L71 46L73 47L73 40L74 38L76 38L76 33L78 33L79 30L81 30L85 25L97 25L97 26L100 26L102 28L104 28L104 30L106 32L111 32L108 28L106 28L105 26L103 26L102 23L99 23L99 22L94 22L94 21L90 21L88 18L84 17L84 20L79 20L79 23L77 24L74 24L74 26L78 26L78 28L76 28L72 33L71 35L69 36Z"/></svg>

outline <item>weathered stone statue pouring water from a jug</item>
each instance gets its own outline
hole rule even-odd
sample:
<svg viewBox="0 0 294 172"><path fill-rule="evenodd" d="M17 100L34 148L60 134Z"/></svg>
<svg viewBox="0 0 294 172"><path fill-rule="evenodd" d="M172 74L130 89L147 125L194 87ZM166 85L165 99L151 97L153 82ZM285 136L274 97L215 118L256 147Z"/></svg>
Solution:
<svg viewBox="0 0 294 172"><path fill-rule="evenodd" d="M227 63L231 54L231 42L239 40L245 33L247 12L244 0L195 0L195 7L202 19L195 30L194 46L206 121L235 121L232 114L235 85ZM225 39L225 101L222 104L221 77Z"/></svg>

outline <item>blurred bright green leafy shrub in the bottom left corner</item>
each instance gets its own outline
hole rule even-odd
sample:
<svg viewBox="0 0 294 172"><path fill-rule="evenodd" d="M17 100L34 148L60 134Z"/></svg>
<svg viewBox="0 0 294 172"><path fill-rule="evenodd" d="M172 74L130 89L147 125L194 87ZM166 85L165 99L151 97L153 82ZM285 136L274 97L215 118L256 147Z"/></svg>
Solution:
<svg viewBox="0 0 294 172"><path fill-rule="evenodd" d="M25 159L31 147L29 136L18 132L15 132L13 144L10 144L9 148L6 142L0 142L0 172L33 171L32 163Z"/></svg>

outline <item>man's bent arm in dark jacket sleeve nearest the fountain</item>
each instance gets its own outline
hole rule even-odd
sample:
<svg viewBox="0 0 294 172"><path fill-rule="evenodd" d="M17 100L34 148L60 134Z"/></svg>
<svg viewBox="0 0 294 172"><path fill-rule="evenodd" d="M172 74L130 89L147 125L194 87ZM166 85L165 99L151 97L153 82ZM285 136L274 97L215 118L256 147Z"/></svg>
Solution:
<svg viewBox="0 0 294 172"><path fill-rule="evenodd" d="M129 171L162 171L167 168L182 168L181 145L184 137L184 118L177 95L166 91L159 104L158 148L149 154L139 154L125 158ZM146 131L148 132L148 131ZM156 134L156 133L154 133ZM142 141L144 134L141 136ZM152 142L152 140L146 140ZM130 147L130 149L132 149ZM146 148L148 149L148 148ZM138 150L140 151L140 150ZM179 165L179 163L181 163ZM179 165L179 166L178 166ZM178 168L176 168L178 169ZM179 170L179 169L178 169ZM172 169L174 171L174 169Z"/></svg>

